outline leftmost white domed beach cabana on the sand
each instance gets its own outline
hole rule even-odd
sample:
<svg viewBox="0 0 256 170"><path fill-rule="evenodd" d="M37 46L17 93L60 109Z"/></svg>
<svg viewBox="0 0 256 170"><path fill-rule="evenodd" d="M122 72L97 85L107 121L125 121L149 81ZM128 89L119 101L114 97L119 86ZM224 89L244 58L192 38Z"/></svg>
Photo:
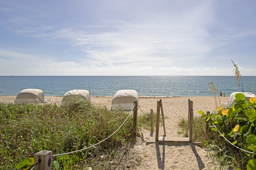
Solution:
<svg viewBox="0 0 256 170"><path fill-rule="evenodd" d="M40 89L24 89L15 98L15 103L43 103L44 92Z"/></svg>

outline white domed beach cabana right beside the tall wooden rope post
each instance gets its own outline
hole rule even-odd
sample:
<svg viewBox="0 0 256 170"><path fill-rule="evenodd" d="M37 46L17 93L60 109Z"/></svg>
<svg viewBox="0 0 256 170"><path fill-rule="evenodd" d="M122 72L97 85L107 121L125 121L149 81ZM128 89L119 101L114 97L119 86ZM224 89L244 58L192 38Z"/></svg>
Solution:
<svg viewBox="0 0 256 170"><path fill-rule="evenodd" d="M135 90L120 90L115 92L111 100L112 109L122 109L124 111L131 111L134 106L134 100L138 101L139 96Z"/></svg>

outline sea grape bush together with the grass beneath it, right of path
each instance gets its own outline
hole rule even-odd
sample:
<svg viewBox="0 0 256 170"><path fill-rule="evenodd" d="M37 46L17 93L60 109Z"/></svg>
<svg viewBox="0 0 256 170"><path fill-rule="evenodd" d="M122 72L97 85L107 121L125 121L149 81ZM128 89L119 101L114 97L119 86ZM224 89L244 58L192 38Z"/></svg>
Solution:
<svg viewBox="0 0 256 170"><path fill-rule="evenodd" d="M206 122L211 122L211 146L217 148L219 164L228 166L230 163L239 169L254 169L254 154L239 150L235 146L249 151L256 152L256 98L245 100L244 94L236 94L236 103L233 106L223 108L218 107L215 113L208 116L202 113ZM217 132L219 130L222 135L232 142L224 142L223 137ZM212 150L213 148L211 148Z"/></svg>

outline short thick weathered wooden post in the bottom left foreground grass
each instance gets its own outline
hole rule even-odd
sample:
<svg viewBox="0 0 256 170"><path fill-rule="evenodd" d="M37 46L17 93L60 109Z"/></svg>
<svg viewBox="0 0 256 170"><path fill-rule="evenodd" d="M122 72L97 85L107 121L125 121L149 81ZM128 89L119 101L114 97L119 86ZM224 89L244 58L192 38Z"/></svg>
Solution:
<svg viewBox="0 0 256 170"><path fill-rule="evenodd" d="M34 154L35 164L41 160L35 170L52 170L52 151L42 150Z"/></svg>

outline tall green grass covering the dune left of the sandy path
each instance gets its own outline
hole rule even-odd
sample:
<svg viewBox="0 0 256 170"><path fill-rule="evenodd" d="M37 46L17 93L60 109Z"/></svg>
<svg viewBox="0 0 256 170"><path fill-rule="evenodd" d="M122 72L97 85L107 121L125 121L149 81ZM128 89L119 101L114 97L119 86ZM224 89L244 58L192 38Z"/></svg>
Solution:
<svg viewBox="0 0 256 170"><path fill-rule="evenodd" d="M30 169L33 154L40 150L56 155L96 144L118 129L127 116L126 112L108 111L105 106L95 107L82 100L63 107L0 103L0 169ZM128 151L132 124L130 116L106 142L65 157L54 157L53 169L120 168Z"/></svg>

